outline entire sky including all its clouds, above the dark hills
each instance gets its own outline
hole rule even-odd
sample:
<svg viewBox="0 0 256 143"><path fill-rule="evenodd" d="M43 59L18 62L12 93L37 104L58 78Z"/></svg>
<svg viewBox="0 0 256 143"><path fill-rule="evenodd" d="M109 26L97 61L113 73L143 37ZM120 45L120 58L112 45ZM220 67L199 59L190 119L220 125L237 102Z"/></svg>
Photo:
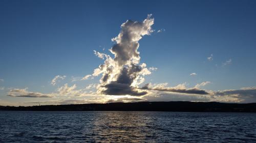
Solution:
<svg viewBox="0 0 256 143"><path fill-rule="evenodd" d="M256 102L255 1L0 1L0 105Z"/></svg>

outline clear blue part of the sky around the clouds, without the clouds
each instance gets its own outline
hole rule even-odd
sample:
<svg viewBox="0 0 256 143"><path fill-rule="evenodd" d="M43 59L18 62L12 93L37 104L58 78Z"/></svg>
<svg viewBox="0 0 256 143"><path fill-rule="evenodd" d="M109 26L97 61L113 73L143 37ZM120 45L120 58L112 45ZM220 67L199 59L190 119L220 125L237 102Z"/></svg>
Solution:
<svg viewBox="0 0 256 143"><path fill-rule="evenodd" d="M93 50L114 57L108 49L120 25L147 14L153 14L155 31L139 41L140 63L158 69L144 83L193 88L209 81L203 87L209 91L256 87L254 1L1 1L1 101L52 100L6 96L12 89L54 93L65 83L76 89L99 83L100 76L71 80L103 63ZM56 75L66 78L53 86Z"/></svg>

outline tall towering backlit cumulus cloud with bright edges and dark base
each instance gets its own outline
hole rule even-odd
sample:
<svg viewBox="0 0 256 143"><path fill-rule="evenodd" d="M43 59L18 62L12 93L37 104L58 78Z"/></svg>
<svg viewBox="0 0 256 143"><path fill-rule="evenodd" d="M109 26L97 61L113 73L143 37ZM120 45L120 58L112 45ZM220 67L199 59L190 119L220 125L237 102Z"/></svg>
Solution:
<svg viewBox="0 0 256 143"><path fill-rule="evenodd" d="M144 35L150 35L154 18L148 15L142 21L127 20L121 25L121 31L112 41L116 42L110 49L114 54L114 58L110 55L97 51L95 55L105 60L104 64L99 65L90 76L99 76L100 85L98 93L105 95L145 95L147 92L138 88L138 85L144 81L144 75L151 74L146 68L146 64L140 62L139 56L139 40Z"/></svg>

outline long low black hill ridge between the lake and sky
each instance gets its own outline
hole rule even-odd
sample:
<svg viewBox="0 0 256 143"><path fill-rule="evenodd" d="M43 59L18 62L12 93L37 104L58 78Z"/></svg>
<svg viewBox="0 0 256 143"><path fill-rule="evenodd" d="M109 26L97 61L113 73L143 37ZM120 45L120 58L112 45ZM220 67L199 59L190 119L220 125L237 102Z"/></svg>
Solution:
<svg viewBox="0 0 256 143"><path fill-rule="evenodd" d="M0 110L26 111L186 111L186 112L256 112L256 103L219 102L136 102L41 106L0 106Z"/></svg>

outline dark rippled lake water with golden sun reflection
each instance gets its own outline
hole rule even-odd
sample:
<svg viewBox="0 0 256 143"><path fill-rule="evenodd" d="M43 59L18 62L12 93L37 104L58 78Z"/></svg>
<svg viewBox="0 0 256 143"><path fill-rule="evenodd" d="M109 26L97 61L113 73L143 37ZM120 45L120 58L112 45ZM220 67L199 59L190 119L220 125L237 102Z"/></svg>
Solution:
<svg viewBox="0 0 256 143"><path fill-rule="evenodd" d="M0 142L256 142L256 113L0 111Z"/></svg>

